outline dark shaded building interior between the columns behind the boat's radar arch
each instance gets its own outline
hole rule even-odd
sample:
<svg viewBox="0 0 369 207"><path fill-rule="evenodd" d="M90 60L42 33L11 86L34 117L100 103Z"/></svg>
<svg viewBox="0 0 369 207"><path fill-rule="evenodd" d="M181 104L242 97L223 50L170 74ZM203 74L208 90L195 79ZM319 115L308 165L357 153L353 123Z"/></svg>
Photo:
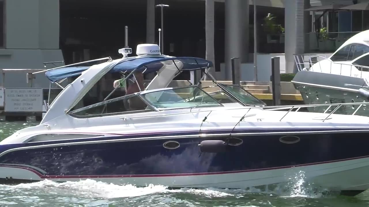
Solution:
<svg viewBox="0 0 369 207"><path fill-rule="evenodd" d="M154 1L154 0L153 0ZM65 64L111 56L120 58L124 48L124 27L128 26L128 45L135 55L137 44L146 43L146 0L60 0L60 48ZM168 4L163 12L164 53L170 56L205 58L205 1L155 0ZM214 5L215 70L224 62L225 3ZM272 13L276 24L284 26L284 8L257 8L258 52L283 53L284 43L267 42L263 19ZM247 18L247 17L245 17ZM249 6L249 52L254 51L254 6ZM161 27L161 10L155 8L155 41ZM252 61L251 61L252 62ZM189 74L177 77L189 78Z"/></svg>

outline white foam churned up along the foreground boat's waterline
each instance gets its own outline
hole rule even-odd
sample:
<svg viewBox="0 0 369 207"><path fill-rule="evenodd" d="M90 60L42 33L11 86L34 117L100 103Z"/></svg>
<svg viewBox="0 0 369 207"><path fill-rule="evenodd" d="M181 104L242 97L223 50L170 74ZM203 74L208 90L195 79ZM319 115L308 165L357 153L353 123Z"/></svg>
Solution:
<svg viewBox="0 0 369 207"><path fill-rule="evenodd" d="M119 197L135 197L144 196L153 193L176 193L184 192L190 194L199 194L206 197L242 197L246 193L262 193L270 196L278 197L321 197L321 192L313 192L312 189L307 188L304 172L299 172L295 177L290 179L290 182L284 185L280 184L276 187L265 186L265 189L249 187L247 189L190 189L182 188L179 190L168 190L166 186L162 185L148 185L147 187L136 187L133 185L114 185L111 183L97 182L95 180L80 180L78 182L64 182L57 183L51 180L43 180L35 183L22 183L14 186L0 185L0 190L21 190L21 189L35 189L47 190L51 194L58 194L60 191L70 193L73 195L80 195L82 197L100 197L100 198L119 198ZM313 192L313 193L311 193Z"/></svg>

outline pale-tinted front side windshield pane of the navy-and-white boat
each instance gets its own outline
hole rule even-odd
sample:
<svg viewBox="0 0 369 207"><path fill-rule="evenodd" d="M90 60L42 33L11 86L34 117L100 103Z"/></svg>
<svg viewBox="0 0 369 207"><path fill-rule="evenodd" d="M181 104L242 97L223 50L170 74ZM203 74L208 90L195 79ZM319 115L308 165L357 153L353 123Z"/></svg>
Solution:
<svg viewBox="0 0 369 207"><path fill-rule="evenodd" d="M199 87L148 92L142 97L158 109L223 106Z"/></svg>

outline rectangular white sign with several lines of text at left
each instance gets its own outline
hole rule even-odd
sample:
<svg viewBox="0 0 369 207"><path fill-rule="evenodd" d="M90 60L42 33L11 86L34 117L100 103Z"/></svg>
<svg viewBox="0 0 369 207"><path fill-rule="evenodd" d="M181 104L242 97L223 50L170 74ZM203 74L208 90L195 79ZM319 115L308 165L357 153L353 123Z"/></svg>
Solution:
<svg viewBox="0 0 369 207"><path fill-rule="evenodd" d="M5 112L42 112L42 88L5 88Z"/></svg>

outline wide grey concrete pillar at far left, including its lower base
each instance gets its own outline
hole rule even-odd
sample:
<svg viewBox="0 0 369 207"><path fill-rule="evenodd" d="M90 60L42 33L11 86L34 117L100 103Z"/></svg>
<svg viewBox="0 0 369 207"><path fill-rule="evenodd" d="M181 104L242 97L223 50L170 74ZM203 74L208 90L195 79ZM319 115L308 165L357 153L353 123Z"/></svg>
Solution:
<svg viewBox="0 0 369 207"><path fill-rule="evenodd" d="M8 0L5 15L6 49L0 53L0 68L48 69L54 65L45 68L43 62L63 60L58 0ZM48 88L49 81L44 82Z"/></svg>

